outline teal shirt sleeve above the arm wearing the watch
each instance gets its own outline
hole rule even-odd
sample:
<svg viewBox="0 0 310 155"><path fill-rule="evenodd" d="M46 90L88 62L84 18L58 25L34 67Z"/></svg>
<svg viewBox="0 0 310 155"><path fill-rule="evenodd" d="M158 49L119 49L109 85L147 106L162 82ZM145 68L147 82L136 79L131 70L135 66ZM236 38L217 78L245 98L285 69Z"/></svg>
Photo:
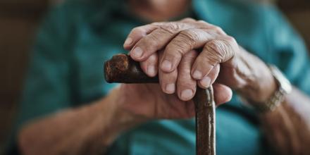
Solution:
<svg viewBox="0 0 310 155"><path fill-rule="evenodd" d="M293 29L278 8L267 8L267 38L274 63L295 87L310 95L310 59L302 37Z"/></svg>

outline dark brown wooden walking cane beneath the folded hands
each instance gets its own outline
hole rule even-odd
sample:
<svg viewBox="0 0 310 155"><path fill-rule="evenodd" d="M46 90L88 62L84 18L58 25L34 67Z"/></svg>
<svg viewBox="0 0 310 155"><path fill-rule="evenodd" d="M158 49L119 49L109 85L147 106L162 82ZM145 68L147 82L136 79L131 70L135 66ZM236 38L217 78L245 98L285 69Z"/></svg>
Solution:
<svg viewBox="0 0 310 155"><path fill-rule="evenodd" d="M159 77L148 77L140 68L140 64L130 56L118 54L104 63L104 77L107 82L119 83L157 83ZM216 154L215 139L215 102L213 89L197 87L194 96L196 112L196 154Z"/></svg>

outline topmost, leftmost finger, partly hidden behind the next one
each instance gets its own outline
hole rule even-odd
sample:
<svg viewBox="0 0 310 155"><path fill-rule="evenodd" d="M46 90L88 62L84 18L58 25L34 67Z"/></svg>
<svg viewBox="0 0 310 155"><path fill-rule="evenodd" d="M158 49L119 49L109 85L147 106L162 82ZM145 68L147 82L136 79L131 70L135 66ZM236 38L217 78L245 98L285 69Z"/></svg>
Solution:
<svg viewBox="0 0 310 155"><path fill-rule="evenodd" d="M146 36L156 28L156 25L143 25L140 27L135 27L125 39L123 44L124 49L130 50L132 46L134 46L142 37Z"/></svg>

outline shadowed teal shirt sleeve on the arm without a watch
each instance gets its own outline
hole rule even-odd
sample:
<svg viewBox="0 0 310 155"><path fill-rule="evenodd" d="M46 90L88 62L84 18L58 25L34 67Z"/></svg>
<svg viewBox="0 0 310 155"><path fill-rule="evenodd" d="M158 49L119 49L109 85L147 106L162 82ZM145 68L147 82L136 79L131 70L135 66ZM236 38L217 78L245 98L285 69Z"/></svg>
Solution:
<svg viewBox="0 0 310 155"><path fill-rule="evenodd" d="M18 104L18 116L8 142L11 154L18 154L16 134L23 124L66 108L72 103L70 53L66 47L69 24L64 7L53 8L39 28Z"/></svg>

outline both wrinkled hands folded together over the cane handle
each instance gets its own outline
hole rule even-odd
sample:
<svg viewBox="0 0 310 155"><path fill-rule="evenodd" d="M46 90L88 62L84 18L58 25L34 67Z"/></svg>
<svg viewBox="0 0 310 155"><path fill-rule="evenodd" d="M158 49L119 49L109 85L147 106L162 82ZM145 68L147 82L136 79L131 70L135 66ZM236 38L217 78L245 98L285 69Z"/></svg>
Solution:
<svg viewBox="0 0 310 155"><path fill-rule="evenodd" d="M274 85L267 66L220 27L202 20L185 18L136 27L124 48L140 61L147 75L159 75L160 80L159 86L121 85L118 103L137 118L190 118L194 116L191 99L197 87L212 84L217 105L230 101L231 89L254 101L264 101L272 93L261 89ZM247 62L255 66L249 68ZM249 91L249 86L255 91Z"/></svg>

